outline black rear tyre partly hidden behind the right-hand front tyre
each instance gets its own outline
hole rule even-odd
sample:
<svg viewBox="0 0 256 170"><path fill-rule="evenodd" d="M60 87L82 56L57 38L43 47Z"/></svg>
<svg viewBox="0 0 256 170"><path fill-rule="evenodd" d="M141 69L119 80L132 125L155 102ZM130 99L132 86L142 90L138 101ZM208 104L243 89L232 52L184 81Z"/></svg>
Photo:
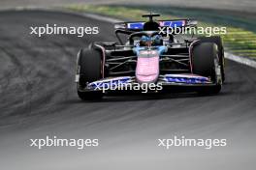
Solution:
<svg viewBox="0 0 256 170"><path fill-rule="evenodd" d="M212 36L212 37L201 37L199 38L200 42L214 42L218 46L218 57L219 57L219 64L221 70L221 78L222 82L225 81L225 58L224 58L224 47L219 36Z"/></svg>

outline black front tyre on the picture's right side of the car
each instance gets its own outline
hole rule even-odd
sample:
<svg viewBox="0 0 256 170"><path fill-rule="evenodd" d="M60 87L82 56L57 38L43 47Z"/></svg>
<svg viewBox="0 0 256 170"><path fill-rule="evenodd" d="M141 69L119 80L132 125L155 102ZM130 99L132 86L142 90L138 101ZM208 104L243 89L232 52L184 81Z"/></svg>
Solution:
<svg viewBox="0 0 256 170"><path fill-rule="evenodd" d="M221 84L216 78L215 64L217 60L217 46L212 42L199 42L195 44L192 50L192 70L193 73L210 77L216 84L214 86L200 87L199 94L218 94L221 90Z"/></svg>

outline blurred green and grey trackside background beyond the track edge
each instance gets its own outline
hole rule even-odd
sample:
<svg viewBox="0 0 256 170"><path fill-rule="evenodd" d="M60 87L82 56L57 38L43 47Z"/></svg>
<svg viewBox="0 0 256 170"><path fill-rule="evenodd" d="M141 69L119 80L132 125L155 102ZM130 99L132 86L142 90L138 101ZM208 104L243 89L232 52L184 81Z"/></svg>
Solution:
<svg viewBox="0 0 256 170"><path fill-rule="evenodd" d="M72 11L106 14L121 19L125 17L141 19L140 15L135 17L136 12L131 10L142 10L139 14L155 12L167 14L169 17L192 17L198 19L203 26L214 24L229 27L228 35L222 37L226 51L242 57L256 58L255 0L2 0L0 2L2 10L24 7L65 7Z"/></svg>

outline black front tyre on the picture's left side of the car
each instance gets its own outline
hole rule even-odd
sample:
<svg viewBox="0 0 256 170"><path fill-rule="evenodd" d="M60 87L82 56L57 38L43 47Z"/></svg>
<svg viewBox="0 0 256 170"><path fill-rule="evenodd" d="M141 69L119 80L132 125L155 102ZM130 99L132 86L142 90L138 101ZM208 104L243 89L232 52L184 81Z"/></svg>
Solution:
<svg viewBox="0 0 256 170"><path fill-rule="evenodd" d="M78 95L82 100L102 99L101 91L82 91L87 83L102 78L102 53L94 48L81 49L78 54Z"/></svg>

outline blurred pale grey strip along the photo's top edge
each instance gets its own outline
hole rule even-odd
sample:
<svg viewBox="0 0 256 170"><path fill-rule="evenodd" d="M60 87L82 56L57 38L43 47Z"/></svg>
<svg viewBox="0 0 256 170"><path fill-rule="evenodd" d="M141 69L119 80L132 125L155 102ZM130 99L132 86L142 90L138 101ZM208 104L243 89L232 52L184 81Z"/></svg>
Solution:
<svg viewBox="0 0 256 170"><path fill-rule="evenodd" d="M148 5L170 5L176 7L205 8L218 10L235 10L239 12L255 13L256 2L254 0L2 0L1 8L17 6L52 7L64 4L148 4Z"/></svg>

